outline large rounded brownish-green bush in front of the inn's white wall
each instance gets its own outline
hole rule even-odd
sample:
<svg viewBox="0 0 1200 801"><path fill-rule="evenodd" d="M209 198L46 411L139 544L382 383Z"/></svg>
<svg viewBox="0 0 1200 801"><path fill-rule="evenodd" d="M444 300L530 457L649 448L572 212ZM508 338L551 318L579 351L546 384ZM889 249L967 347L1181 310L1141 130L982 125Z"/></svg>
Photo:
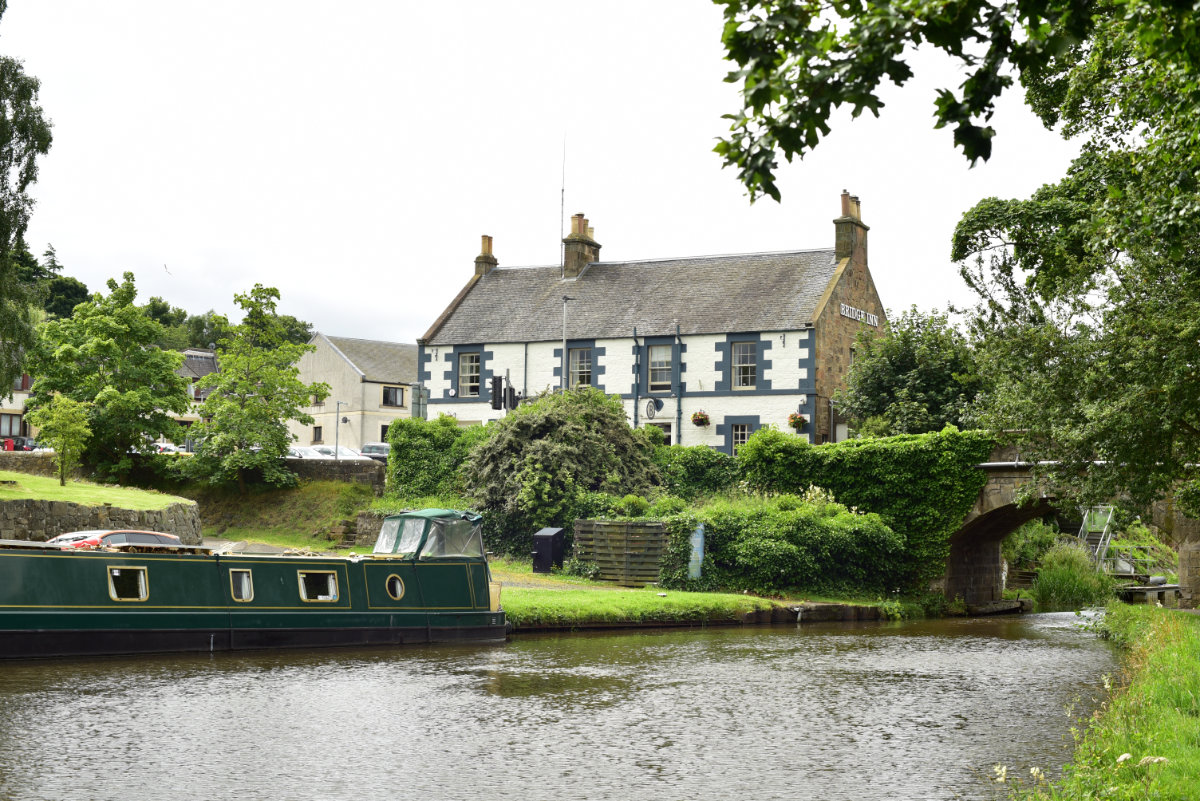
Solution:
<svg viewBox="0 0 1200 801"><path fill-rule="evenodd" d="M659 480L620 399L599 390L542 395L488 428L463 464L463 486L504 550L530 550L542 526L570 528L586 493L644 494Z"/></svg>

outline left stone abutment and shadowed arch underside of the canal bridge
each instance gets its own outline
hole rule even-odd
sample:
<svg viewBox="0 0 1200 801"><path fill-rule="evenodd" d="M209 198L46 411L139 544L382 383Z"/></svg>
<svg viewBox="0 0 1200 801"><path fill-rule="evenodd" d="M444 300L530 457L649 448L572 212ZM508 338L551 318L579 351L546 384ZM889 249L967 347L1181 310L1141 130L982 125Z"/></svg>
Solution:
<svg viewBox="0 0 1200 801"><path fill-rule="evenodd" d="M988 472L988 483L979 490L962 526L950 536L946 564L947 597L961 597L970 606L991 603L1003 596L1001 540L1021 524L1055 511L1052 499L1048 498L1018 506L1019 492L1031 480L1028 466L1004 451L997 451L992 458L994 462L979 465Z"/></svg>

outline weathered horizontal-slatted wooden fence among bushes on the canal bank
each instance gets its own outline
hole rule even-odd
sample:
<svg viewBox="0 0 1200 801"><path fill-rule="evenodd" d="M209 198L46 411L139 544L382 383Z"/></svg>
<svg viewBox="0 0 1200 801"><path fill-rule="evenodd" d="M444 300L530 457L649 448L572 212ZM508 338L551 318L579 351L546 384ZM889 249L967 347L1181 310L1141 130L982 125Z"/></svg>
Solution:
<svg viewBox="0 0 1200 801"><path fill-rule="evenodd" d="M600 578L623 586L659 580L659 561L667 547L660 522L576 520L575 555L600 567Z"/></svg>

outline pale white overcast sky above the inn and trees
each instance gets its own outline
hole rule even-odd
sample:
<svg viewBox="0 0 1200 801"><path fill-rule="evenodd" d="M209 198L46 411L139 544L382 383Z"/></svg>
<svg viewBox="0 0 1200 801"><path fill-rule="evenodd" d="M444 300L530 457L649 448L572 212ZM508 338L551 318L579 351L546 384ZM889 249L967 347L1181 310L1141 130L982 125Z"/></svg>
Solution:
<svg viewBox="0 0 1200 801"><path fill-rule="evenodd" d="M565 215L602 260L833 247L846 188L884 306L929 309L971 300L962 212L1074 152L1014 94L970 169L931 119L961 78L919 56L751 206L712 152L738 109L721 23L696 0L10 0L0 53L54 125L26 239L92 291L132 271L143 301L233 315L257 282L325 333L413 342L481 234L500 266L558 264L565 141Z"/></svg>

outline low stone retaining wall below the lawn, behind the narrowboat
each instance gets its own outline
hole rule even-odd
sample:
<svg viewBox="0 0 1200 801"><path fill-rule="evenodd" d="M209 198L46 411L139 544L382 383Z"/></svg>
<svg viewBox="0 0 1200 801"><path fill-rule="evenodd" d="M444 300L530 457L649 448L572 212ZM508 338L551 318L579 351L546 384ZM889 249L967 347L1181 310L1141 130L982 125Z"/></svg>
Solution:
<svg viewBox="0 0 1200 801"><path fill-rule="evenodd" d="M166 531L178 536L186 546L198 546L200 511L196 504L172 504L162 510L138 511L70 501L0 501L0 540L43 542L67 531L90 529Z"/></svg>

